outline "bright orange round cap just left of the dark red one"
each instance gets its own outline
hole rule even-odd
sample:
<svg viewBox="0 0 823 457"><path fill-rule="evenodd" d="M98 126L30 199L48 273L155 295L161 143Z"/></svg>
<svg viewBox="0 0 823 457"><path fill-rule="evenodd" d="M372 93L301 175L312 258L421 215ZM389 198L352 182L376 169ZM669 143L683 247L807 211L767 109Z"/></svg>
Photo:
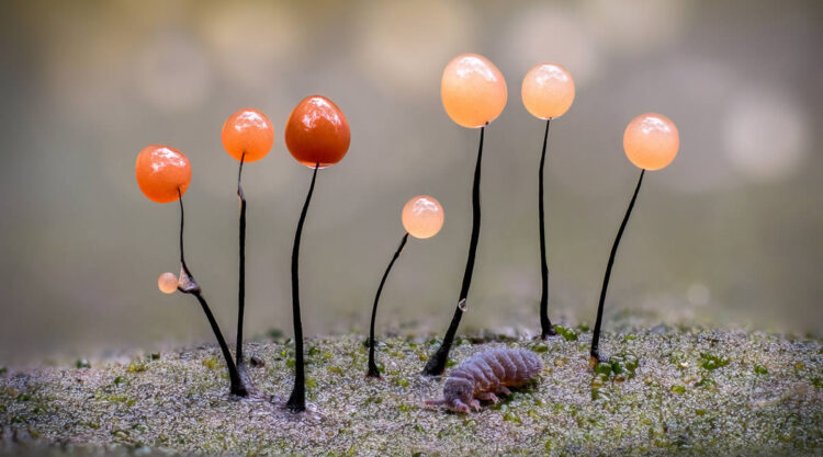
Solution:
<svg viewBox="0 0 823 457"><path fill-rule="evenodd" d="M274 127L262 112L244 108L228 116L221 133L223 147L229 156L244 162L260 160L274 144Z"/></svg>

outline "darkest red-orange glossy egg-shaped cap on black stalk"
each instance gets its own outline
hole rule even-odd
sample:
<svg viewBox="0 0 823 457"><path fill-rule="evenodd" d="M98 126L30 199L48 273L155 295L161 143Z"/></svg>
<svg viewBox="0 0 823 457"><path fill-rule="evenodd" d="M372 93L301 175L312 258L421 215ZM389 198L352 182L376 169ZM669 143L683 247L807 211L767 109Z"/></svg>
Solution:
<svg viewBox="0 0 823 457"><path fill-rule="evenodd" d="M306 167L334 165L349 150L351 135L342 111L325 96L312 95L294 107L285 124L285 146Z"/></svg>

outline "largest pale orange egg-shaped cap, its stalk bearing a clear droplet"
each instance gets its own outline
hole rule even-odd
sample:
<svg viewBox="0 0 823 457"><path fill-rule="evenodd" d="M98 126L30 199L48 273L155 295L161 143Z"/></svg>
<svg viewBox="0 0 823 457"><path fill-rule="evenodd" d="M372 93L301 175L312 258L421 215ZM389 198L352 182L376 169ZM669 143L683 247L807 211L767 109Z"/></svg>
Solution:
<svg viewBox="0 0 823 457"><path fill-rule="evenodd" d="M487 58L462 54L446 66L440 98L452 121L463 127L477 128L503 113L508 89L500 70Z"/></svg>

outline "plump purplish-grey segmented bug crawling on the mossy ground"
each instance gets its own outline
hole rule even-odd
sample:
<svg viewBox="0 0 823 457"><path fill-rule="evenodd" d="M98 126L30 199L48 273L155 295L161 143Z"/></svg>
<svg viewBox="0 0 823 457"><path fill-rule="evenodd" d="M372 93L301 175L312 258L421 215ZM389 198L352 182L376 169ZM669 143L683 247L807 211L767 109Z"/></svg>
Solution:
<svg viewBox="0 0 823 457"><path fill-rule="evenodd" d="M480 411L478 400L497 403L509 387L525 385L543 369L543 361L527 350L498 349L475 354L452 369L443 385L443 398L426 404L444 404L455 412Z"/></svg>

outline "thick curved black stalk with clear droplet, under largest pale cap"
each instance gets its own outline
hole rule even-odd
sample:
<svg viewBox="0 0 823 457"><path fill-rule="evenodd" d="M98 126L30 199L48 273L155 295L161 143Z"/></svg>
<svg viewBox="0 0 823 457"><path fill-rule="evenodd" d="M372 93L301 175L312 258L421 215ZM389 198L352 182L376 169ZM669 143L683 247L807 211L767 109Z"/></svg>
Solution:
<svg viewBox="0 0 823 457"><path fill-rule="evenodd" d="M488 123L486 123L488 125ZM443 342L438 347L437 352L429 357L426 363L426 367L422 373L427 376L439 376L446 369L446 361L449 358L449 351L451 351L451 344L454 342L454 335L458 333L458 327L460 325L460 318L463 317L463 311L466 308L466 297L469 296L469 287L472 285L472 273L474 271L474 256L477 252L477 241L480 240L480 221L481 221L481 208L480 208L480 178L481 178L481 161L483 159L483 134L486 127L481 127L481 141L477 148L477 162L474 165L474 185L472 187L472 240L469 244L469 259L465 264L465 273L463 274L463 285L460 288L460 298L458 299L458 307L454 309L454 316L451 318L449 330L446 331Z"/></svg>

